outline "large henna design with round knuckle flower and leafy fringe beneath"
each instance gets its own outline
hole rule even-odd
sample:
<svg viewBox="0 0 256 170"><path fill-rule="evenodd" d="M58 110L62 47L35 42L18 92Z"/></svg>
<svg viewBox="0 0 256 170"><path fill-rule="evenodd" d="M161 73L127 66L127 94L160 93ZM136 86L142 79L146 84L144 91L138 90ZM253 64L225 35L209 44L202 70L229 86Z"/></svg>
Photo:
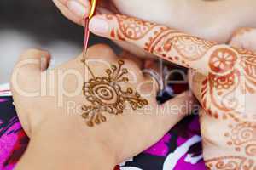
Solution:
<svg viewBox="0 0 256 170"><path fill-rule="evenodd" d="M212 52L210 72L201 88L202 106L209 115L224 119L229 115L236 122L245 120L244 114L241 114L245 113L242 96L256 92L255 56L247 50L229 47ZM247 120L251 121L253 116L250 115Z"/></svg>

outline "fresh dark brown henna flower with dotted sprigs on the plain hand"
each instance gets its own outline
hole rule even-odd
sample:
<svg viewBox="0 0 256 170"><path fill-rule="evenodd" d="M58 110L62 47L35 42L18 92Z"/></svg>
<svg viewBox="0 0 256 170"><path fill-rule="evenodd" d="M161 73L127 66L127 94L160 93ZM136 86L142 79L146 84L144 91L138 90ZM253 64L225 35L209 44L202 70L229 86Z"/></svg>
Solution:
<svg viewBox="0 0 256 170"><path fill-rule="evenodd" d="M128 77L125 77L128 71L122 68L123 65L124 61L119 60L119 66L111 65L111 69L106 70L107 77L95 77L84 82L84 95L91 105L83 105L82 116L88 120L89 127L106 122L107 118L103 113L122 114L126 102L133 110L148 105L148 101L132 88L125 91L121 88L120 82L129 82Z"/></svg>

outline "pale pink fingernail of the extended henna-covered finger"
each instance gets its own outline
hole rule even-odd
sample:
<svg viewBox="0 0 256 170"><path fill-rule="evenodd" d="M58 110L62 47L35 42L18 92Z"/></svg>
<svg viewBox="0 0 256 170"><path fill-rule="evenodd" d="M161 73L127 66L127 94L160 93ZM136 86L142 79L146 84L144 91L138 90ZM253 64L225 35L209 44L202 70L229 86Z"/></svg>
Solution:
<svg viewBox="0 0 256 170"><path fill-rule="evenodd" d="M90 20L90 31L105 34L108 32L108 22L106 20L94 17Z"/></svg>

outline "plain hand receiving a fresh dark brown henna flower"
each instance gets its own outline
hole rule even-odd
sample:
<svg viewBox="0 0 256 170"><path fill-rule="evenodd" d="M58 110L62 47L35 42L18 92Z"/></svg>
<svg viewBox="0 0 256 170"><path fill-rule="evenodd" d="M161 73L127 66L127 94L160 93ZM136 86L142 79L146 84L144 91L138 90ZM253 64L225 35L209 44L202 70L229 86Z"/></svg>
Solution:
<svg viewBox="0 0 256 170"><path fill-rule="evenodd" d="M15 108L31 138L16 169L113 169L157 142L185 116L177 108L194 101L184 93L158 105L155 83L143 76L140 61L118 58L103 45L89 48L92 74L84 74L81 56L53 70L47 69L49 59L46 52L29 50L15 66ZM110 64L123 73L113 76Z"/></svg>

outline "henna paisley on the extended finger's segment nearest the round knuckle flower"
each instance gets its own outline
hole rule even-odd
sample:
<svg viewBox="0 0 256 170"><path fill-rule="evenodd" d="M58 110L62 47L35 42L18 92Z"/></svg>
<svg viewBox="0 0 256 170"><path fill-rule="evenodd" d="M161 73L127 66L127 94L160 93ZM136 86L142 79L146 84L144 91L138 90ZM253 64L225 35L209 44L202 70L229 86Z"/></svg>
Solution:
<svg viewBox="0 0 256 170"><path fill-rule="evenodd" d="M169 59L176 54L175 56L184 61L195 61L201 59L207 50L213 46L211 42L203 41L197 37L177 31L163 32L163 30L164 28L160 27L160 35L151 37L144 49Z"/></svg>

